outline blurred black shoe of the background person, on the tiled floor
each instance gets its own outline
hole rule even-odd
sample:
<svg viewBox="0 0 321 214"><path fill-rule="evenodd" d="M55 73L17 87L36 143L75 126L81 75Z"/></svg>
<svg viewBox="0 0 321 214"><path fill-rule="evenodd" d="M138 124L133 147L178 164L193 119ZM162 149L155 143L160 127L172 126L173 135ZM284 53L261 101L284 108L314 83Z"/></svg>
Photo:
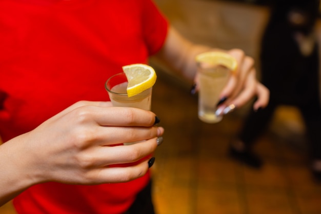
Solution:
<svg viewBox="0 0 321 214"><path fill-rule="evenodd" d="M230 146L229 155L234 160L255 169L259 169L263 165L263 161L256 154L249 150L238 151Z"/></svg>

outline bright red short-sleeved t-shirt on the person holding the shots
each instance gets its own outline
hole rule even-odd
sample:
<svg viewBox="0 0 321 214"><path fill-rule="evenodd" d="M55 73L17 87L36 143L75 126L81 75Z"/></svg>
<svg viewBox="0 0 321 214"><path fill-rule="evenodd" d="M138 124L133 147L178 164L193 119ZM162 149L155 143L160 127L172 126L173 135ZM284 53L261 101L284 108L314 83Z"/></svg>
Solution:
<svg viewBox="0 0 321 214"><path fill-rule="evenodd" d="M147 63L168 23L151 0L0 1L0 136L30 131L79 100L107 101L104 83ZM28 154L26 154L28 155ZM149 181L44 183L14 199L18 213L122 213Z"/></svg>

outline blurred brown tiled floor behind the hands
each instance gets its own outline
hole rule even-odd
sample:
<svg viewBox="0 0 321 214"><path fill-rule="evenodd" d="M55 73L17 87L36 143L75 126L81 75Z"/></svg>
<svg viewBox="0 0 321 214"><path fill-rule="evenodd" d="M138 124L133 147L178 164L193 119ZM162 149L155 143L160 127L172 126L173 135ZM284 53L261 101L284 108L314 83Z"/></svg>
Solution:
<svg viewBox="0 0 321 214"><path fill-rule="evenodd" d="M321 185L310 177L304 147L267 131L255 147L265 161L261 170L231 161L228 142L242 116L234 112L218 124L200 122L189 87L159 71L152 109L166 129L153 166L158 214L321 213ZM0 213L15 212L8 203Z"/></svg>

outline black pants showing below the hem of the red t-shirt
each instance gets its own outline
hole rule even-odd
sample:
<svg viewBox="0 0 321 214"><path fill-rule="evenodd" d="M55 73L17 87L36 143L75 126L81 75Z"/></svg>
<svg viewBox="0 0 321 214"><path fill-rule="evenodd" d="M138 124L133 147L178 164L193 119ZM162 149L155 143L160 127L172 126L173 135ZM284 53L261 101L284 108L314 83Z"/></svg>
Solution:
<svg viewBox="0 0 321 214"><path fill-rule="evenodd" d="M152 184L148 185L137 194L136 200L124 214L155 214L152 203Z"/></svg>

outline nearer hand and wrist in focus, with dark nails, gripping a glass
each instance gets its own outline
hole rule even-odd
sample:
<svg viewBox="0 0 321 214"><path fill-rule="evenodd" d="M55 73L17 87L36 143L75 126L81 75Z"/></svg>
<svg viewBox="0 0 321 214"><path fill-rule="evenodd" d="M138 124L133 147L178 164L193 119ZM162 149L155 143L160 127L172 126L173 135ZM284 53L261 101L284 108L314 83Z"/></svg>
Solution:
<svg viewBox="0 0 321 214"><path fill-rule="evenodd" d="M0 204L42 182L102 184L143 176L164 129L155 114L110 102L78 102L0 146ZM126 142L143 141L133 145ZM112 146L117 145L117 146ZM132 163L128 167L109 167ZM133 164L134 163L134 164Z"/></svg>

